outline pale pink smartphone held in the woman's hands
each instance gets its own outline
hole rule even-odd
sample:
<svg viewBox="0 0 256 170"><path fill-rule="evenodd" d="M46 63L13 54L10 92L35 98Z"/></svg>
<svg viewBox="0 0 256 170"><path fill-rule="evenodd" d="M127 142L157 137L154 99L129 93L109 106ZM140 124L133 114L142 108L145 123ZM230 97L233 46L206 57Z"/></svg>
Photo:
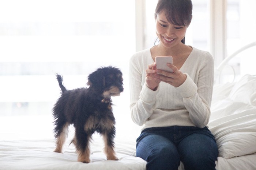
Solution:
<svg viewBox="0 0 256 170"><path fill-rule="evenodd" d="M156 56L155 62L157 63L158 70L164 70L167 72L173 72L173 70L167 66L167 63L173 64L172 56Z"/></svg>

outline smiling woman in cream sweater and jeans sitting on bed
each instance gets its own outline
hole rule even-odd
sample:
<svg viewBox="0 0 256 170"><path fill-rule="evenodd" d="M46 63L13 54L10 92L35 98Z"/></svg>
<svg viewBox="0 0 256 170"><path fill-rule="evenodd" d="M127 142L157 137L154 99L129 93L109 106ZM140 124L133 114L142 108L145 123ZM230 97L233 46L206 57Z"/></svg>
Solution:
<svg viewBox="0 0 256 170"><path fill-rule="evenodd" d="M209 52L185 45L191 0L159 0L155 9L159 43L129 63L131 117L143 126L136 155L147 169L215 169L218 148L207 128L214 80ZM156 56L173 56L173 72L156 69ZM161 73L161 74L158 74Z"/></svg>

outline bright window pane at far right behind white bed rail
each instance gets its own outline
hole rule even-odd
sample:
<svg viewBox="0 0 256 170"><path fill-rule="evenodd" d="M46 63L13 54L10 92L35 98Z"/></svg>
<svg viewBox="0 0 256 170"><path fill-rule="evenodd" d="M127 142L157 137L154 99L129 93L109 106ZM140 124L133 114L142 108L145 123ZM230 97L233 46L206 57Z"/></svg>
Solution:
<svg viewBox="0 0 256 170"><path fill-rule="evenodd" d="M256 41L255 7L255 0L227 0L227 56ZM250 70L250 68L254 68L254 63L256 63L256 59L253 57L255 56L253 52L255 49L256 47L252 47L245 50L229 62L236 75L256 74L256 70Z"/></svg>

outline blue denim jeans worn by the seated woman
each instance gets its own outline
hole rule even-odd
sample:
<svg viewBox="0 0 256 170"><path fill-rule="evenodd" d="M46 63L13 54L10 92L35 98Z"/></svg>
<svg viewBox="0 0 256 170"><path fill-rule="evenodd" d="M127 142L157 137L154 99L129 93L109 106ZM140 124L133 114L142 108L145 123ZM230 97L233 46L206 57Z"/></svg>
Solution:
<svg viewBox="0 0 256 170"><path fill-rule="evenodd" d="M215 170L218 147L207 127L172 126L144 129L137 139L136 155L147 170Z"/></svg>

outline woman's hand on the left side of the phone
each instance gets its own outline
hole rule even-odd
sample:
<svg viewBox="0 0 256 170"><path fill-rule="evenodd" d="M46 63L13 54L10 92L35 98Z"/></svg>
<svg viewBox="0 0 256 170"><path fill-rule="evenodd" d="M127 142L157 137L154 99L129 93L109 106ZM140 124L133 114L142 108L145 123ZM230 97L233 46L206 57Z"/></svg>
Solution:
<svg viewBox="0 0 256 170"><path fill-rule="evenodd" d="M146 70L146 84L147 87L151 90L156 90L158 87L158 84L161 82L158 78L159 75L156 72L157 64L154 62L152 64L148 65L148 69Z"/></svg>

